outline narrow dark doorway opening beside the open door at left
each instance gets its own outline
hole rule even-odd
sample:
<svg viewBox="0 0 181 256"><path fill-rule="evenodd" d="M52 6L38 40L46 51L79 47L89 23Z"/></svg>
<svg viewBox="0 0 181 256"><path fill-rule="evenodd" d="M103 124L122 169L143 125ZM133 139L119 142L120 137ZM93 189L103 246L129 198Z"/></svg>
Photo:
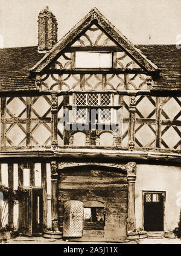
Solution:
<svg viewBox="0 0 181 256"><path fill-rule="evenodd" d="M33 189L33 234L42 233L43 228L43 198L42 189Z"/></svg>

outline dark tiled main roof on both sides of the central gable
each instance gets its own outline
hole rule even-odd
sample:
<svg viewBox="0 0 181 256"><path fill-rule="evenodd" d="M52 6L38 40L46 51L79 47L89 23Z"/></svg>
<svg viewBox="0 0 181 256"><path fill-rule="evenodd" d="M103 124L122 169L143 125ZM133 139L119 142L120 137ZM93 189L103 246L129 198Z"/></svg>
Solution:
<svg viewBox="0 0 181 256"><path fill-rule="evenodd" d="M160 78L154 81L155 89L181 89L181 50L176 45L135 46L161 69ZM35 90L29 69L43 55L37 52L37 46L0 49L0 90Z"/></svg>

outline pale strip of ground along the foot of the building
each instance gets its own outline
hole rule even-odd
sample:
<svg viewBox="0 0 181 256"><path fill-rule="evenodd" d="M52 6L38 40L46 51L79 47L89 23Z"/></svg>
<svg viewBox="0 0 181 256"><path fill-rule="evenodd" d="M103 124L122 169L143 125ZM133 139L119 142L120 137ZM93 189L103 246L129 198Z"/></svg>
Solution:
<svg viewBox="0 0 181 256"><path fill-rule="evenodd" d="M99 242L68 242L68 240L55 240L43 237L17 237L8 240L8 244L100 244ZM103 242L101 242L103 244ZM107 244L105 242L105 244ZM179 238L144 238L139 241L127 242L125 244L181 244Z"/></svg>

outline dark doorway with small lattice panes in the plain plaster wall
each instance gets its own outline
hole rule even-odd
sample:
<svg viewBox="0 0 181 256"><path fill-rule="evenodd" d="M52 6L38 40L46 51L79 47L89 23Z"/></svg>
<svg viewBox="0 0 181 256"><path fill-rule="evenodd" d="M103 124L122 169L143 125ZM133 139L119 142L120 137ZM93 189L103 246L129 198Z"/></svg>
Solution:
<svg viewBox="0 0 181 256"><path fill-rule="evenodd" d="M164 193L144 192L144 230L164 231Z"/></svg>

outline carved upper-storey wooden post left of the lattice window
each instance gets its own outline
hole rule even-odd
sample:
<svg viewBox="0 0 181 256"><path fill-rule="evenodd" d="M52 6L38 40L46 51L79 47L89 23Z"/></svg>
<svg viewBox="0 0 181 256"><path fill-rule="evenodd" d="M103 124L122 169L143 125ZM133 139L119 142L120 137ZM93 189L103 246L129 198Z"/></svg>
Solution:
<svg viewBox="0 0 181 256"><path fill-rule="evenodd" d="M51 124L52 124L52 134L51 134L51 146L52 149L56 149L57 148L57 123L58 123L58 97L57 94L51 94L51 114L52 114L52 120L51 120Z"/></svg>

